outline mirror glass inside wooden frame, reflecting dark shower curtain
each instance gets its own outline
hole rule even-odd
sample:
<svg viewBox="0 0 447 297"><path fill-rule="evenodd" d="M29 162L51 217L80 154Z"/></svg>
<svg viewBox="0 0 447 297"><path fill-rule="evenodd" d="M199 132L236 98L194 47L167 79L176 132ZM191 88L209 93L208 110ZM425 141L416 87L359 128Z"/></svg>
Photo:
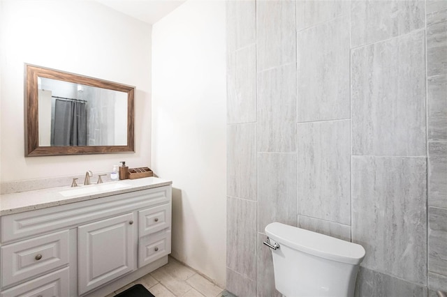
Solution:
<svg viewBox="0 0 447 297"><path fill-rule="evenodd" d="M38 77L39 146L125 146L127 93Z"/></svg>

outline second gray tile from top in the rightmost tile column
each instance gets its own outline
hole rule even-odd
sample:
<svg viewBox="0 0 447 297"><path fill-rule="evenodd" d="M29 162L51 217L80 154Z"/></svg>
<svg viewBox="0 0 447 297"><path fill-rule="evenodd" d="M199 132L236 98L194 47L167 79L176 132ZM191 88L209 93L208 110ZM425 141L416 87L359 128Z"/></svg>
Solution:
<svg viewBox="0 0 447 297"><path fill-rule="evenodd" d="M427 26L427 77L446 74L447 22L440 22Z"/></svg>

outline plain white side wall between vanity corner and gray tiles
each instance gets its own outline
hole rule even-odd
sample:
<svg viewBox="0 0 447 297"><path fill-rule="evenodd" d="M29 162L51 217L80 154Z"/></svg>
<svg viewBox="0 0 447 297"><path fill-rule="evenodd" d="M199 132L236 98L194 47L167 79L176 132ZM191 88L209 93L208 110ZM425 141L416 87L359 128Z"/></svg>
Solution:
<svg viewBox="0 0 447 297"><path fill-rule="evenodd" d="M225 3L186 1L152 40L152 167L173 180L173 256L223 286Z"/></svg>

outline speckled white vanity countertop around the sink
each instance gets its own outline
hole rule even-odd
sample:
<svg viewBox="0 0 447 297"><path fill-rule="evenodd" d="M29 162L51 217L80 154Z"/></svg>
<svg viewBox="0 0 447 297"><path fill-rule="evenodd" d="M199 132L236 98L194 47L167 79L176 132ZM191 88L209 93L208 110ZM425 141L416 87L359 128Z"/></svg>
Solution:
<svg viewBox="0 0 447 297"><path fill-rule="evenodd" d="M173 182L166 179L156 177L146 177L137 179L125 179L123 181L104 182L100 185L112 185L119 183L122 188L113 188L110 190L102 190L88 194L62 195L61 192L82 189L87 187L95 187L92 185L79 185L77 188L66 187L47 188L41 190L32 190L27 192L17 192L11 194L0 195L0 216L10 215L13 213L22 213L24 211L34 211L35 209L47 208L52 206L71 204L74 202L107 197L111 195L134 192L138 190L146 190L151 188L162 187L163 185L171 185Z"/></svg>

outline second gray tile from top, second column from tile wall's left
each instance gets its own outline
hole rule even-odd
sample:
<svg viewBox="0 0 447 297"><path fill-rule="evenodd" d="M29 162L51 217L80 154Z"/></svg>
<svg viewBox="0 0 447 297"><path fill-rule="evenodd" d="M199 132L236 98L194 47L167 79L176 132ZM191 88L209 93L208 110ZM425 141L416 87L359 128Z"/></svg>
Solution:
<svg viewBox="0 0 447 297"><path fill-rule="evenodd" d="M258 152L296 151L296 65L258 73Z"/></svg>

